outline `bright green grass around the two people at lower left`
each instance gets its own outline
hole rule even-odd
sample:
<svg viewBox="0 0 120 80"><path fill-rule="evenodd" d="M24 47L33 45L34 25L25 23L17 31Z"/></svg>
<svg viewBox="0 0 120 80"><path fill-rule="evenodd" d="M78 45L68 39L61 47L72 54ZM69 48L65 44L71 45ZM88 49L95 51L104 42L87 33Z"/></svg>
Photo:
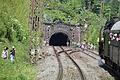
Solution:
<svg viewBox="0 0 120 80"><path fill-rule="evenodd" d="M29 62L27 45L22 43L0 43L0 55L5 46L16 48L16 58L14 64L0 57L0 80L35 80L36 70ZM10 53L10 52L9 52Z"/></svg>

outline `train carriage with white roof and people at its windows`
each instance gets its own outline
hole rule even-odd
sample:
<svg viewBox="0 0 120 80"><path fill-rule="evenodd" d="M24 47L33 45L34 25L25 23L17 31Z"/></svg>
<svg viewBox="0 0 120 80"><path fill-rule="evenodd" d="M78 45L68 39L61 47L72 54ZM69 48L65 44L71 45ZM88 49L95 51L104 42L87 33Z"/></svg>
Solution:
<svg viewBox="0 0 120 80"><path fill-rule="evenodd" d="M120 66L120 21L116 22L109 32L110 59L116 66Z"/></svg>

